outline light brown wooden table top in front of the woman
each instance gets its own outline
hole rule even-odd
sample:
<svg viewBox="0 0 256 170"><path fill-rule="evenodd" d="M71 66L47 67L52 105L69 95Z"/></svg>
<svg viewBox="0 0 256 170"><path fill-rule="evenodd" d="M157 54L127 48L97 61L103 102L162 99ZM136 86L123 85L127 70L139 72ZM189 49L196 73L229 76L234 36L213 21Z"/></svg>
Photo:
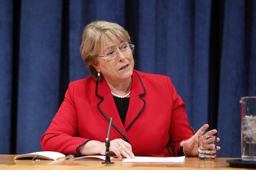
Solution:
<svg viewBox="0 0 256 170"><path fill-rule="evenodd" d="M202 161L199 158L185 158L183 163L125 163L122 159L111 160L113 164L102 164L102 160L75 160L60 158L58 160L14 160L16 155L0 155L0 169L247 169L230 168L228 159L216 158L215 161Z"/></svg>

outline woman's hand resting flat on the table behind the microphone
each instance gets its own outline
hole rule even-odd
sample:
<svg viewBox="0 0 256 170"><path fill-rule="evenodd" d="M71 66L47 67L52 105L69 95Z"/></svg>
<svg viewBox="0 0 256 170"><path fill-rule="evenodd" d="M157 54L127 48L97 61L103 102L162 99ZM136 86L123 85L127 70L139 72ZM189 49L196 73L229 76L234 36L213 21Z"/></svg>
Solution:
<svg viewBox="0 0 256 170"><path fill-rule="evenodd" d="M115 154L118 158L122 158L122 156L126 158L135 158L135 155L132 152L132 146L121 138L110 141L109 151L110 154ZM88 141L80 146L79 152L82 155L105 155L105 142L96 140Z"/></svg>

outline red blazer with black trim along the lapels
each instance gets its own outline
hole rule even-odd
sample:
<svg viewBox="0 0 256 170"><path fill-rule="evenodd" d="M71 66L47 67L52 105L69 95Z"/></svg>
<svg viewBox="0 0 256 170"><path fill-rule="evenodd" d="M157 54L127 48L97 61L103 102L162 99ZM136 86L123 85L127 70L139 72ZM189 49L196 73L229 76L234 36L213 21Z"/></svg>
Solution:
<svg viewBox="0 0 256 170"><path fill-rule="evenodd" d="M110 118L110 140L122 138L135 156L177 155L180 142L193 133L185 104L169 77L133 71L130 103L123 126L105 80L91 77L69 84L65 99L41 137L43 151L77 154L89 140L105 142Z"/></svg>

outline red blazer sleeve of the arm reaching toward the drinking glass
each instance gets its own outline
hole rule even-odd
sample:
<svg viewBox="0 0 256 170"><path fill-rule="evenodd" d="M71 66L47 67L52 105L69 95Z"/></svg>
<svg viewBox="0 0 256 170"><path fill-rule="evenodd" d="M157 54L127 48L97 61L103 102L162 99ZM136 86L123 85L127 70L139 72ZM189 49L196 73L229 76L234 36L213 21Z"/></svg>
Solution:
<svg viewBox="0 0 256 170"><path fill-rule="evenodd" d="M177 91L171 79L168 77L169 91L172 97L172 112L171 112L171 124L169 128L169 146L174 152L174 156L180 155L180 143L183 140L188 140L193 136L191 132L191 126L188 124L188 117L185 112L185 103L182 98L177 94Z"/></svg>

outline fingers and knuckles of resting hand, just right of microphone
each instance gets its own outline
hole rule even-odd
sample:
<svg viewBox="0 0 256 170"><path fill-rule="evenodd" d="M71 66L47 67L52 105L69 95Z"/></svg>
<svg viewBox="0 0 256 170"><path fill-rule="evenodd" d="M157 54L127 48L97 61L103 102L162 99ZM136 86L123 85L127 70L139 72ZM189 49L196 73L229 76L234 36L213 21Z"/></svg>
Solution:
<svg viewBox="0 0 256 170"><path fill-rule="evenodd" d="M121 139L110 141L110 150L114 152L118 158L122 158L122 155L126 158L135 158L132 152L132 146Z"/></svg>

